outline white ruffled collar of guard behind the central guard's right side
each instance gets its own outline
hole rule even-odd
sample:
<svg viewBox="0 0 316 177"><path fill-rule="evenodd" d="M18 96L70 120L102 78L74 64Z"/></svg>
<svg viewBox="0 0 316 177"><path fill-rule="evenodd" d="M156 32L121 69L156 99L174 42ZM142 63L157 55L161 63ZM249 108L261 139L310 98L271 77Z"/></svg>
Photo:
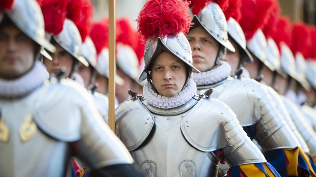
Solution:
<svg viewBox="0 0 316 177"><path fill-rule="evenodd" d="M214 69L201 73L193 73L194 82L199 85L210 85L226 79L231 71L227 62L221 61L220 65Z"/></svg>

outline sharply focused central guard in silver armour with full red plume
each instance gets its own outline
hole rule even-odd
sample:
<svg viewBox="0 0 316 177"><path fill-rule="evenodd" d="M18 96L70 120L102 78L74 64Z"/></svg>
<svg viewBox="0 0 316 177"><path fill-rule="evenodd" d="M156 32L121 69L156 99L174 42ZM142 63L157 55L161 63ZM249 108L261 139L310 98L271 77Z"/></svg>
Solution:
<svg viewBox="0 0 316 177"><path fill-rule="evenodd" d="M232 166L228 175L278 176L219 100L196 95L192 52L185 34L190 27L188 3L147 1L138 18L146 40L147 79L143 96L116 109L116 134L148 176L216 176L218 163ZM251 168L251 171L244 170Z"/></svg>

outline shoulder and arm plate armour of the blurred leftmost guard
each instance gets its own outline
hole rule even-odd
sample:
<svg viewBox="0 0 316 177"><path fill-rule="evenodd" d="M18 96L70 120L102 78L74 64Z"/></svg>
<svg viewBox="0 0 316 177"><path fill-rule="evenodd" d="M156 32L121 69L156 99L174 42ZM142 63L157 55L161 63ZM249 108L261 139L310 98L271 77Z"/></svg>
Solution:
<svg viewBox="0 0 316 177"><path fill-rule="evenodd" d="M41 90L45 97L38 101L34 121L43 132L60 141L76 141L78 156L92 169L133 163L82 86L64 79L46 83Z"/></svg>

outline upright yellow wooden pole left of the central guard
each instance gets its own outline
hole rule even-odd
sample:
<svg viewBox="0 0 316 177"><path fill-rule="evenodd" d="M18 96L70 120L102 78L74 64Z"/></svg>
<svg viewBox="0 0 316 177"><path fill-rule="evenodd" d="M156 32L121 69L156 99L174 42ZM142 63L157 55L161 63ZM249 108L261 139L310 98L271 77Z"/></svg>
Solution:
<svg viewBox="0 0 316 177"><path fill-rule="evenodd" d="M115 132L115 0L109 0L109 126Z"/></svg>

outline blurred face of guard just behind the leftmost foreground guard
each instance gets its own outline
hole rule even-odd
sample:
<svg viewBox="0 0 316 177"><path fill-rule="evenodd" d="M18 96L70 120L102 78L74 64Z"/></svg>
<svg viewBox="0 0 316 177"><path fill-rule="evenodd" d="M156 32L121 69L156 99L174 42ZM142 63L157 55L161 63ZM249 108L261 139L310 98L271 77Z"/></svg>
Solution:
<svg viewBox="0 0 316 177"><path fill-rule="evenodd" d="M54 46L56 47L56 52L49 53L50 56L52 57L52 61L44 60L44 64L47 68L47 71L49 72L49 75L51 75L51 74L55 74L61 68L65 67L66 72L64 74L64 77L68 77L71 72L73 62L75 59L70 53L68 53L65 49L63 49L57 43L55 43Z"/></svg>

